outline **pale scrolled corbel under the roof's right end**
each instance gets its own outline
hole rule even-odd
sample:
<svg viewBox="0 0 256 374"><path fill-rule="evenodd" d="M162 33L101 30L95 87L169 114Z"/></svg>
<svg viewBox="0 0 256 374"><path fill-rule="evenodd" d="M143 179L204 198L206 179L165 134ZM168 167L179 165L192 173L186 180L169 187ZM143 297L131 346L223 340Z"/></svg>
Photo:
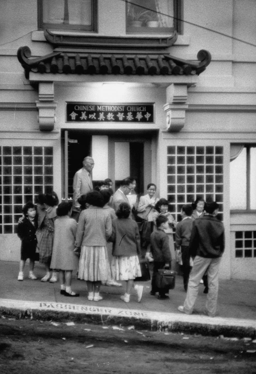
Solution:
<svg viewBox="0 0 256 374"><path fill-rule="evenodd" d="M166 88L167 103L163 106L166 112L167 131L180 131L185 125L187 102L187 85L172 84Z"/></svg>

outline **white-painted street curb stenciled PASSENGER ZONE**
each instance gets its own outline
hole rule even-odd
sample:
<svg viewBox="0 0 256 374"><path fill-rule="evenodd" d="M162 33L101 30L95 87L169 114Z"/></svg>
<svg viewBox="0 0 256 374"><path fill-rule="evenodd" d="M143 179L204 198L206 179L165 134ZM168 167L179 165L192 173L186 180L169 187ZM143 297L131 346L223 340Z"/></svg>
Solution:
<svg viewBox="0 0 256 374"><path fill-rule="evenodd" d="M104 306L0 299L0 315L39 321L74 321L101 325L134 325L136 329L226 337L256 336L256 321Z"/></svg>

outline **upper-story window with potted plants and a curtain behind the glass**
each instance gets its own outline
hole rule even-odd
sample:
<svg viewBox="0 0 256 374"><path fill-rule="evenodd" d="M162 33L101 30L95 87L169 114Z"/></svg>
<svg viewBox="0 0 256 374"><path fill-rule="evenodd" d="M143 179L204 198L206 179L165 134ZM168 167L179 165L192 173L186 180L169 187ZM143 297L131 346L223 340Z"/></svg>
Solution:
<svg viewBox="0 0 256 374"><path fill-rule="evenodd" d="M181 32L181 0L128 0L127 33Z"/></svg>

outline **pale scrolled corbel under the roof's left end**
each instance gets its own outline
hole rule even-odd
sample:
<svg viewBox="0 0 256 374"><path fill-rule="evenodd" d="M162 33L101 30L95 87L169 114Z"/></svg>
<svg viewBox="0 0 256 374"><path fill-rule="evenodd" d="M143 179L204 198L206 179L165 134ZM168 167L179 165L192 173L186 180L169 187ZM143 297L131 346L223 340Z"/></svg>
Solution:
<svg viewBox="0 0 256 374"><path fill-rule="evenodd" d="M39 111L39 129L41 131L52 131L56 121L55 109L57 107L57 102L54 101L53 82L39 83L38 98L36 107Z"/></svg>

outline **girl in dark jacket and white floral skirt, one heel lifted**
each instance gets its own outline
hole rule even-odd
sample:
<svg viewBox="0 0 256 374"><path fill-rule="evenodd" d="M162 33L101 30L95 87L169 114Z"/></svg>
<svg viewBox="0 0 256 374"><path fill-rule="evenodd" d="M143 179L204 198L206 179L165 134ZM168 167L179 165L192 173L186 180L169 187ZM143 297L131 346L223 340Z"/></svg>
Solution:
<svg viewBox="0 0 256 374"><path fill-rule="evenodd" d="M138 302L141 301L143 286L134 286L134 279L141 277L141 268L138 255L141 253L141 239L138 225L131 220L130 207L127 203L121 203L116 212L117 218L112 224L111 240L113 244L113 258L111 272L117 281L126 281L126 293L120 298L125 303L130 301L132 287L138 294Z"/></svg>

